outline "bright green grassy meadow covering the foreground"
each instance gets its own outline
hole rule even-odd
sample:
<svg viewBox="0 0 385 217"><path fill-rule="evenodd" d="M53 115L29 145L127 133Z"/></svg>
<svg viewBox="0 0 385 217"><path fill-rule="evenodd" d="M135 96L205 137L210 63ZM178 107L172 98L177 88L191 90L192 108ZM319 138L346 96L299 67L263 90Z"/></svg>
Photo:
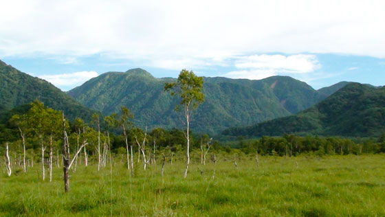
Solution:
<svg viewBox="0 0 385 217"><path fill-rule="evenodd" d="M41 181L41 168L0 177L0 216L385 216L385 156L232 157L214 165L161 163L131 178L117 161L100 172L78 165L63 190L63 170ZM199 171L203 170L203 173ZM2 169L4 167L2 165ZM112 178L112 179L111 179ZM112 187L112 188L111 188ZM112 192L112 193L111 193Z"/></svg>

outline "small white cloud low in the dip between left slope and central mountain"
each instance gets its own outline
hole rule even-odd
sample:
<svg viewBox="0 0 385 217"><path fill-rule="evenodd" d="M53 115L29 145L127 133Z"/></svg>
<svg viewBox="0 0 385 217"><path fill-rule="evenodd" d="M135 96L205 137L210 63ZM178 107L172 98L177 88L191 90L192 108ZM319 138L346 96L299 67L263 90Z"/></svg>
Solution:
<svg viewBox="0 0 385 217"><path fill-rule="evenodd" d="M51 82L63 91L68 91L70 88L77 87L96 76L98 76L96 71L76 71L73 73L62 73L56 75L41 75L39 78Z"/></svg>

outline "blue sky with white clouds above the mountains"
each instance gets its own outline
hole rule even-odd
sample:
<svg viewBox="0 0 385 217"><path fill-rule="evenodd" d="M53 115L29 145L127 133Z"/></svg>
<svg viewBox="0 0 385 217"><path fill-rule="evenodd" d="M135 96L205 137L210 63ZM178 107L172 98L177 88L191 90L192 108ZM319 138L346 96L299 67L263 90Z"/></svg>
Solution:
<svg viewBox="0 0 385 217"><path fill-rule="evenodd" d="M385 85L384 1L0 0L0 59L63 91L107 71Z"/></svg>

